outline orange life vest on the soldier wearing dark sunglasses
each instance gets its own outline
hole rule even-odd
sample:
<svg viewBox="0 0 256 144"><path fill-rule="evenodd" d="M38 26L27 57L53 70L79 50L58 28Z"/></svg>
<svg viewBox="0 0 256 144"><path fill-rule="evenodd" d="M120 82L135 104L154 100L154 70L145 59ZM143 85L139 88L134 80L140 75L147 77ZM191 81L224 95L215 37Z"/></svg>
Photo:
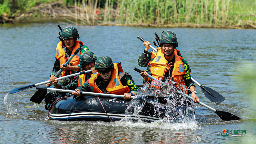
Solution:
<svg viewBox="0 0 256 144"><path fill-rule="evenodd" d="M107 91L110 94L118 94L118 95L123 95L124 93L128 93L129 92L129 88L128 86L123 86L120 79L119 79L119 75L118 72L123 72L123 68L121 65L119 65L118 63L114 63L114 70L112 71L111 74L111 78L110 78L110 82L107 86ZM94 73L91 75L91 78L89 79L89 86L90 89L92 90L92 92L95 93L103 93L98 86L96 85L95 80L97 79L97 77L100 74Z"/></svg>

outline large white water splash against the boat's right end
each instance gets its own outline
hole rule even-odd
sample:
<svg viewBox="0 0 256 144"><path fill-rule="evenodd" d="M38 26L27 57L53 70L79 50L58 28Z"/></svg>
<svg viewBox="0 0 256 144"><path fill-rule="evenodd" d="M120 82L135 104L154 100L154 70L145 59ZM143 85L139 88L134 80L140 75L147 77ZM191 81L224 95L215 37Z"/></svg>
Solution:
<svg viewBox="0 0 256 144"><path fill-rule="evenodd" d="M163 123L187 123L195 121L195 104L185 97L185 87L179 86L173 81L152 84L145 83L138 89L135 98L131 101L126 117L122 121L130 121L140 115L155 117Z"/></svg>

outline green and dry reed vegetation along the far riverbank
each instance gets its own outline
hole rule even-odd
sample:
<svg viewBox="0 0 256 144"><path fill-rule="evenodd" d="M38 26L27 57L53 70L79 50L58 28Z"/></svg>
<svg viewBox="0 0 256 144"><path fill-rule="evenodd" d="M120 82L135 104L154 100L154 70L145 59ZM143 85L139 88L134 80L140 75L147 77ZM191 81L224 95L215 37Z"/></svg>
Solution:
<svg viewBox="0 0 256 144"><path fill-rule="evenodd" d="M6 17L18 21L63 17L89 25L256 28L256 0L0 0L0 4L2 23Z"/></svg>

